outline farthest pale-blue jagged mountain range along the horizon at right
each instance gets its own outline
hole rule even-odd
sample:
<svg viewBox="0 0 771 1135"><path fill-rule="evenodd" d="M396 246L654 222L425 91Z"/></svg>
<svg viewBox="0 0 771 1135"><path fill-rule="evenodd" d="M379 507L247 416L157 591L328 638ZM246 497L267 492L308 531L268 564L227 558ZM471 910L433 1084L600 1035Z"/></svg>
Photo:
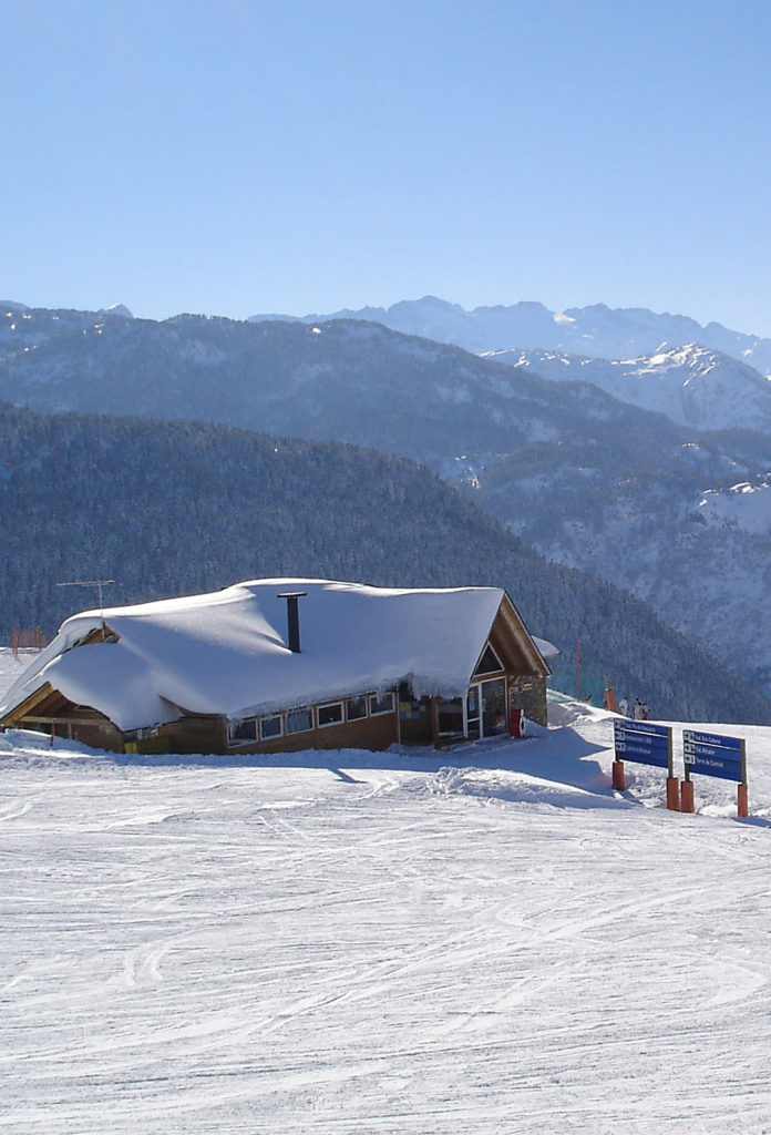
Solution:
<svg viewBox="0 0 771 1135"><path fill-rule="evenodd" d="M268 318L297 317L252 317L255 321ZM391 308L362 308L299 318L304 322L365 319L406 335L454 343L474 354L540 347L592 359L637 359L697 343L739 359L763 375L771 373L771 339L731 331L721 323L702 327L687 316L655 314L644 308L612 309L596 303L554 312L541 303L524 302L466 311L457 303L425 296L405 300Z"/></svg>

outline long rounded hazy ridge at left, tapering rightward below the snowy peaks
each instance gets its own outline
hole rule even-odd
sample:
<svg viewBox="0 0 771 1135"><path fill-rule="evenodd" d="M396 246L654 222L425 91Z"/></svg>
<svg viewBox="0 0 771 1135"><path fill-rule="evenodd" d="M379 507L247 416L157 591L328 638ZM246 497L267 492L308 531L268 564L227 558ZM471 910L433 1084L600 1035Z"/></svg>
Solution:
<svg viewBox="0 0 771 1135"><path fill-rule="evenodd" d="M39 411L142 412L353 442L433 468L638 411L458 347L338 320L163 322L35 310L0 316L0 400Z"/></svg>

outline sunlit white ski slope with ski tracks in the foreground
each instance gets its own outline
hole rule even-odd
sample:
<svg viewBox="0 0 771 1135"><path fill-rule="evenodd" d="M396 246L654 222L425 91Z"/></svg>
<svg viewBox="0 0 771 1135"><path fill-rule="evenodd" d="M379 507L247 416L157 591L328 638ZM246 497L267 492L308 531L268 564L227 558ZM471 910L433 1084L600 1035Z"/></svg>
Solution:
<svg viewBox="0 0 771 1135"><path fill-rule="evenodd" d="M0 737L0 1129L771 1129L771 730L738 822L613 796L608 715L552 713L263 763Z"/></svg>

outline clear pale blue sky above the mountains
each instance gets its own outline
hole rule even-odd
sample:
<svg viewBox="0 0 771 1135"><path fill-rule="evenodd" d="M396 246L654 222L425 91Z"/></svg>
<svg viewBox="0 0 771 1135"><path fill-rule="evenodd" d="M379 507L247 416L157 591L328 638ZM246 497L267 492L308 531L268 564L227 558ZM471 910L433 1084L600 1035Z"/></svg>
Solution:
<svg viewBox="0 0 771 1135"><path fill-rule="evenodd" d="M771 335L768 0L5 5L0 297Z"/></svg>

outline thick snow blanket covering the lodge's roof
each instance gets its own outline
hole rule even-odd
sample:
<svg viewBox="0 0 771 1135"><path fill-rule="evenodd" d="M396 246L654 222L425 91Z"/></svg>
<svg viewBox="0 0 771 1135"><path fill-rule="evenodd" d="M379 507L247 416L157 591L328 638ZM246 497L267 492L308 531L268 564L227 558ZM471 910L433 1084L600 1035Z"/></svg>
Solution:
<svg viewBox="0 0 771 1135"><path fill-rule="evenodd" d="M286 638L299 599L300 653ZM45 682L121 730L181 711L245 717L409 681L415 695L465 693L506 592L393 590L269 579L209 595L74 615L11 687L0 715ZM117 642L71 649L104 623Z"/></svg>

